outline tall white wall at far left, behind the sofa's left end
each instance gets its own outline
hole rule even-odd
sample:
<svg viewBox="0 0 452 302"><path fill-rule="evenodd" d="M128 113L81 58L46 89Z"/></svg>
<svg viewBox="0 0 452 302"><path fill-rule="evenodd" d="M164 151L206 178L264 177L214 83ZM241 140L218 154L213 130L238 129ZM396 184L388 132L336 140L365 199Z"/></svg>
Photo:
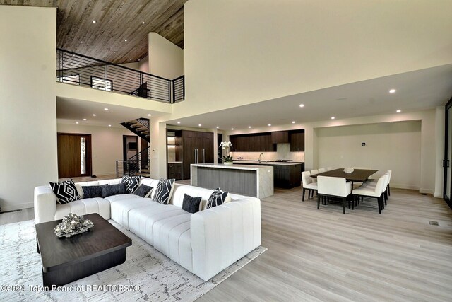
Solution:
<svg viewBox="0 0 452 302"><path fill-rule="evenodd" d="M0 6L1 211L57 180L56 30L56 8Z"/></svg>

